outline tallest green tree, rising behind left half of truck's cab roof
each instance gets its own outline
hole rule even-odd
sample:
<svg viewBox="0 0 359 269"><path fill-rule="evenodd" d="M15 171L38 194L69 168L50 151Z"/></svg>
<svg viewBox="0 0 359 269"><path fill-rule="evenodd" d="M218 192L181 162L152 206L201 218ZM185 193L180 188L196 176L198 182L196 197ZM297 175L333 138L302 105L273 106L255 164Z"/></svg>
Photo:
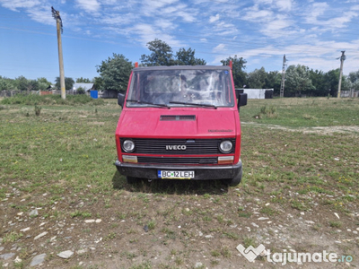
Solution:
<svg viewBox="0 0 359 269"><path fill-rule="evenodd" d="M150 55L142 55L141 62L145 66L175 65L172 48L160 39L154 39L147 43L147 48L152 51Z"/></svg>

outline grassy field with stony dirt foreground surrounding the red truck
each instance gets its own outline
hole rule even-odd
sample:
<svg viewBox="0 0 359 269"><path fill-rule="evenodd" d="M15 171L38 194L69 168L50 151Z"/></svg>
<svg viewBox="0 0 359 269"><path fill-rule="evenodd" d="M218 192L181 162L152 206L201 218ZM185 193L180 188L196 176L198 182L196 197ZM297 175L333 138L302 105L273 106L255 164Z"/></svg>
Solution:
<svg viewBox="0 0 359 269"><path fill-rule="evenodd" d="M238 244L328 249L358 265L358 111L358 99L249 100L239 186L129 186L113 166L116 100L1 100L0 255L15 255L0 268L41 253L51 268L251 268Z"/></svg>

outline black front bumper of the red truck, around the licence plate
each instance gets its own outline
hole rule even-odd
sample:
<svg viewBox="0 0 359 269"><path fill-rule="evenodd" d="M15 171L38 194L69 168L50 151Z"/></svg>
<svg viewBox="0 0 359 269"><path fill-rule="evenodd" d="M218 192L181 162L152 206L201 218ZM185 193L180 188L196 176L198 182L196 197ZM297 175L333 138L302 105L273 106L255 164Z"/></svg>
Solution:
<svg viewBox="0 0 359 269"><path fill-rule="evenodd" d="M158 178L158 170L191 170L195 171L194 180L206 179L230 179L235 178L241 172L241 160L233 165L193 166L193 165L156 165L134 164L115 161L118 172L127 177L161 179Z"/></svg>

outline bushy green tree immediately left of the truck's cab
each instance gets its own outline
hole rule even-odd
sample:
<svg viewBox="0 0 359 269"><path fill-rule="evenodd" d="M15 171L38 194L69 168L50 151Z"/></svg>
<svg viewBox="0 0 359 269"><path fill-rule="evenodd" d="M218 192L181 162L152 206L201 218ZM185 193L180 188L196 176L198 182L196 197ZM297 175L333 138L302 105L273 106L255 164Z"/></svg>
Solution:
<svg viewBox="0 0 359 269"><path fill-rule="evenodd" d="M112 57L97 65L101 80L95 79L95 85L101 82L103 90L126 91L129 75L133 65L122 54L114 53Z"/></svg>

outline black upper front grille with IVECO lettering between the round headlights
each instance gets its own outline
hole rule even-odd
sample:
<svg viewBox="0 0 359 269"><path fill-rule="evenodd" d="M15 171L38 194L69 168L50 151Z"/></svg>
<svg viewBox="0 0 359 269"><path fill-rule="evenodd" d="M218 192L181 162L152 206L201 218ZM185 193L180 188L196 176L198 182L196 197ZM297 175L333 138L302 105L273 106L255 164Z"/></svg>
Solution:
<svg viewBox="0 0 359 269"><path fill-rule="evenodd" d="M127 138L120 138L122 143ZM181 154L181 155L202 155L202 154L223 154L219 151L218 145L223 139L132 139L136 145L133 153L142 154ZM233 143L232 151L235 149L235 139L230 139ZM186 150L167 150L166 146L185 145Z"/></svg>

